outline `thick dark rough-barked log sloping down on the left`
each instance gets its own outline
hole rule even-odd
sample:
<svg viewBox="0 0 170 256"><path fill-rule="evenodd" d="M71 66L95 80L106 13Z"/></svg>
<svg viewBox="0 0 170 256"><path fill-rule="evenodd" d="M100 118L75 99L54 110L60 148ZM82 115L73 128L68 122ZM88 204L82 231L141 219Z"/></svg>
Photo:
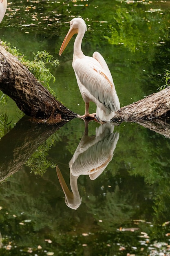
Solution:
<svg viewBox="0 0 170 256"><path fill-rule="evenodd" d="M26 115L40 119L76 117L57 101L20 61L0 46L0 90Z"/></svg>

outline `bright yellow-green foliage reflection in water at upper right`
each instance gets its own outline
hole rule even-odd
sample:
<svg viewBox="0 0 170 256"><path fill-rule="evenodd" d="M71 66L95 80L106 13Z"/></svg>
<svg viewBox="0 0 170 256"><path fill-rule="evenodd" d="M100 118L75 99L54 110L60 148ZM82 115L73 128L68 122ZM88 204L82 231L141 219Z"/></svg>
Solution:
<svg viewBox="0 0 170 256"><path fill-rule="evenodd" d="M133 7L133 6L132 6ZM164 26L163 12L158 10L152 15L144 12L144 9L128 9L117 8L113 16L114 25L110 25L111 36L106 36L108 42L112 45L123 44L128 47L131 52L145 50L148 43L160 43L168 39L168 27ZM152 31L152 33L150 33ZM158 32L159 31L159 32ZM160 33L160 34L159 34Z"/></svg>

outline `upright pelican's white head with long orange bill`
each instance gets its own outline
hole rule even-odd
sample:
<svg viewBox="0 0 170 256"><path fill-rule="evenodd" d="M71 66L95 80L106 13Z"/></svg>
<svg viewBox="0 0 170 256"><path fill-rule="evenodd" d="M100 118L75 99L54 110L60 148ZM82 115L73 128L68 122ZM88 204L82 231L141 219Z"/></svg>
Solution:
<svg viewBox="0 0 170 256"><path fill-rule="evenodd" d="M87 26L84 20L82 18L73 18L73 20L70 21L70 29L68 30L68 33L64 38L64 41L60 48L59 55L60 56L62 55L62 53L64 52L64 49L66 48L66 46L68 45L69 41L71 40L74 34L78 34L79 32L82 32L84 36L84 33L86 31L87 31Z"/></svg>

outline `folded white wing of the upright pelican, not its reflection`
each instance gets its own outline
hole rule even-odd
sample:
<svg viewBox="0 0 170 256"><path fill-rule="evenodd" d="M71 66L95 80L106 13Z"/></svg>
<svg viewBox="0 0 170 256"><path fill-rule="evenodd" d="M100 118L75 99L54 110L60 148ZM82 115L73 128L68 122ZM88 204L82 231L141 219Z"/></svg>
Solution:
<svg viewBox="0 0 170 256"><path fill-rule="evenodd" d="M88 90L88 97L100 102L111 111L120 108L113 80L108 77L100 63L92 57L84 56L74 61L73 69L79 82ZM78 82L78 81L77 81Z"/></svg>

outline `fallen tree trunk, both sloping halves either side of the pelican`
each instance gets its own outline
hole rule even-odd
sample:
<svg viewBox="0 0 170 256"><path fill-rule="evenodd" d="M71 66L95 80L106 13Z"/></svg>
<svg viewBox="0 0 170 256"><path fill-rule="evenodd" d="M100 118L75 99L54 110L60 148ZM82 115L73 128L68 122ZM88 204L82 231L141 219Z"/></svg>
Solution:
<svg viewBox="0 0 170 256"><path fill-rule="evenodd" d="M57 101L20 61L0 46L0 90L26 115L40 119L69 119L77 115ZM170 117L170 87L122 107L113 122Z"/></svg>

